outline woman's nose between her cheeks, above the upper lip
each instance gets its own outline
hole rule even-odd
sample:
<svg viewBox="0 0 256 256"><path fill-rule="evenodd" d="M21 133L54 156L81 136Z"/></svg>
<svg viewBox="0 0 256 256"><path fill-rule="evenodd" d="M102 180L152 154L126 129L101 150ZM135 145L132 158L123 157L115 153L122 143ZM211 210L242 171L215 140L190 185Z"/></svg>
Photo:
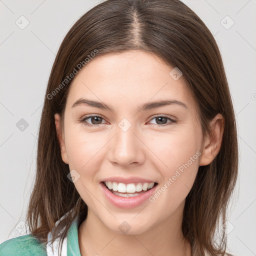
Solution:
<svg viewBox="0 0 256 256"><path fill-rule="evenodd" d="M145 145L142 140L133 126L126 131L117 127L116 133L108 146L109 161L125 167L131 164L143 163L145 160Z"/></svg>

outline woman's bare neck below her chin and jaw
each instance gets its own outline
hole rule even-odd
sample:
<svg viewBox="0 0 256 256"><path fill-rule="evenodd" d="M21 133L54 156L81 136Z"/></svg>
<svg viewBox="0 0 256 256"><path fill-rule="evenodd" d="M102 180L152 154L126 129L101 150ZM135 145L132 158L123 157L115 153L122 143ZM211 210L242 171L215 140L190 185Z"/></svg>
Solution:
<svg viewBox="0 0 256 256"><path fill-rule="evenodd" d="M138 234L117 233L107 228L88 209L78 228L81 256L168 255L191 256L191 246L181 231L183 204L171 216Z"/></svg>

